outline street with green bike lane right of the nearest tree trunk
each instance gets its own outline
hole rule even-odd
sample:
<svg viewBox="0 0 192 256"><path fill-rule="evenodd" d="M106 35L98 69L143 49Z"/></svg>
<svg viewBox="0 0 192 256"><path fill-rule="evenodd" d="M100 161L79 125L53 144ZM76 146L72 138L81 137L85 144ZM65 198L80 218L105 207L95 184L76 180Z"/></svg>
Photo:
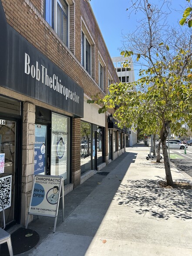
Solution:
<svg viewBox="0 0 192 256"><path fill-rule="evenodd" d="M192 146L188 146L186 154L182 149L170 149L169 153L171 162L192 177Z"/></svg>

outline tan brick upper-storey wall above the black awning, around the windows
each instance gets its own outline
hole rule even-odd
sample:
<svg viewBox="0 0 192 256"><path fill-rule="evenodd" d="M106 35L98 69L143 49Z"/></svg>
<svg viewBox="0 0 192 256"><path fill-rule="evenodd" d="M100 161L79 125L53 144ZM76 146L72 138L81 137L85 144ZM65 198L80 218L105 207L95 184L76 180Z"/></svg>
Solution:
<svg viewBox="0 0 192 256"><path fill-rule="evenodd" d="M46 55L58 67L60 67L66 74L68 74L74 81L84 88L84 92L88 95L94 95L103 92L95 84L98 79L94 81L84 68L81 67L81 17L86 22L86 25L95 41L95 70L93 77L98 77L98 50L103 55L104 62L106 63L106 71L108 71L108 61L111 59L108 50L105 47L104 40L100 35L100 30L95 24L92 15L90 3L84 0L76 0L75 4L71 5L70 13L70 50L60 40L54 30L47 24L43 17L43 3L42 0L2 0L3 8L6 13L7 22L22 36L24 36L31 44L34 45L39 51ZM74 14L74 15L73 15ZM74 30L75 28L75 30ZM75 54L75 55L74 55ZM115 74L111 71L110 73ZM107 77L105 77L107 79ZM118 77L115 74L114 81ZM108 84L107 82L105 84Z"/></svg>

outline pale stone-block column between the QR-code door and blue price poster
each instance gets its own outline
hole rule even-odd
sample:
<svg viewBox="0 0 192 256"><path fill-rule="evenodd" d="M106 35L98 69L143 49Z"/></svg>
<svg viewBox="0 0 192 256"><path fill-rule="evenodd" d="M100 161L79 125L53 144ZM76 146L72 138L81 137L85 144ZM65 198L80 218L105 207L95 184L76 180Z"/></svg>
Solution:
<svg viewBox="0 0 192 256"><path fill-rule="evenodd" d="M35 105L24 103L22 147L21 224L25 225L34 175ZM33 219L30 216L29 222Z"/></svg>

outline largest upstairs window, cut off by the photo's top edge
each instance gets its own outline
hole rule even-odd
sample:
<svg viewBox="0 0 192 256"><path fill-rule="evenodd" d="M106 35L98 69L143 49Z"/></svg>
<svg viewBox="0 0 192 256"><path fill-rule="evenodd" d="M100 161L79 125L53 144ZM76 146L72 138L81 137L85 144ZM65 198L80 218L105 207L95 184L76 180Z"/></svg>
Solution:
<svg viewBox="0 0 192 256"><path fill-rule="evenodd" d="M68 5L64 0L45 0L45 20L67 45Z"/></svg>

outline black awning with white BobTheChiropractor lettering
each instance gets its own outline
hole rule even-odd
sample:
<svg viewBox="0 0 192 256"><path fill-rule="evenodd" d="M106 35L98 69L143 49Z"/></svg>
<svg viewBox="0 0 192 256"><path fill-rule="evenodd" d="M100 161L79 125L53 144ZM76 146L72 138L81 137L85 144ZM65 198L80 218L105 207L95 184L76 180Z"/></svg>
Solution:
<svg viewBox="0 0 192 256"><path fill-rule="evenodd" d="M0 86L83 117L83 88L7 24L1 1L0 35Z"/></svg>

